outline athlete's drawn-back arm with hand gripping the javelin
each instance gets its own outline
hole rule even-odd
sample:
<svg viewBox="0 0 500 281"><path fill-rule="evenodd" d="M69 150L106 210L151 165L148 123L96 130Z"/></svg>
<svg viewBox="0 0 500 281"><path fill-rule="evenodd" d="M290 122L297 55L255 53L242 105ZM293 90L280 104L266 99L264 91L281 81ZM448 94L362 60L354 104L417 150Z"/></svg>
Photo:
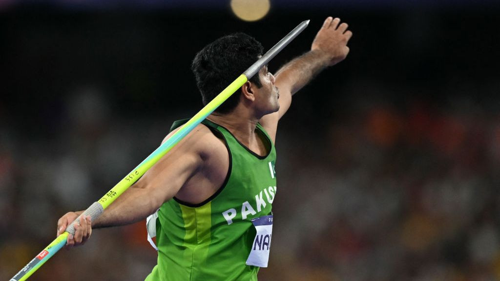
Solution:
<svg viewBox="0 0 500 281"><path fill-rule="evenodd" d="M68 223L79 218L79 224L74 225L75 234L68 235L65 247L83 244L89 238L92 228L124 225L144 219L163 202L172 198L202 166L206 153L209 153L206 151L206 144L201 141L203 137L199 135L199 130L198 125L116 198L95 221L90 223L90 217L81 215L83 211L64 214L57 221L57 236L64 232Z"/></svg>

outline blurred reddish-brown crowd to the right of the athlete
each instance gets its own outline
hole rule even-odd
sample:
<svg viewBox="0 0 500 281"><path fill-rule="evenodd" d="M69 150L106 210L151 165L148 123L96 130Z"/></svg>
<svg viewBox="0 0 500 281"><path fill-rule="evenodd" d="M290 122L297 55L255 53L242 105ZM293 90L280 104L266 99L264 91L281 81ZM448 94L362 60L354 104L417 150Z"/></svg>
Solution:
<svg viewBox="0 0 500 281"><path fill-rule="evenodd" d="M500 100L466 85L370 103L381 89L354 87L343 121L320 133L311 118L277 165L284 222L273 260L287 265L268 279L500 279Z"/></svg>

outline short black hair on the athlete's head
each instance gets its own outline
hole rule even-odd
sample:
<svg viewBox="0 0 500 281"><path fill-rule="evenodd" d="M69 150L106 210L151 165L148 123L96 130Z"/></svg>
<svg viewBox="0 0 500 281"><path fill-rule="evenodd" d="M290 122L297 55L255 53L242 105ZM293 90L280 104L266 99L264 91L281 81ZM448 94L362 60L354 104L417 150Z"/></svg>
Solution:
<svg viewBox="0 0 500 281"><path fill-rule="evenodd" d="M245 33L223 36L203 47L191 65L203 104L210 102L255 62L262 55L262 49L255 38ZM253 75L250 81L257 87L261 86L258 75ZM238 102L239 94L236 92L215 111L230 112Z"/></svg>

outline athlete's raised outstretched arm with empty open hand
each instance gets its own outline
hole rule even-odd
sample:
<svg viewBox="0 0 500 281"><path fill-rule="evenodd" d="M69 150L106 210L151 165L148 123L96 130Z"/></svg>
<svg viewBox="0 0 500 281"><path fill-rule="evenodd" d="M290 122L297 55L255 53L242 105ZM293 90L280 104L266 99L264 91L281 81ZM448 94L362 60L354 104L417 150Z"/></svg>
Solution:
<svg viewBox="0 0 500 281"><path fill-rule="evenodd" d="M340 23L339 18L329 16L312 41L311 50L292 59L276 72L274 84L279 88L279 110L260 119L272 139L275 138L279 118L290 107L291 96L322 69L342 61L349 52L347 42L351 36L347 23Z"/></svg>

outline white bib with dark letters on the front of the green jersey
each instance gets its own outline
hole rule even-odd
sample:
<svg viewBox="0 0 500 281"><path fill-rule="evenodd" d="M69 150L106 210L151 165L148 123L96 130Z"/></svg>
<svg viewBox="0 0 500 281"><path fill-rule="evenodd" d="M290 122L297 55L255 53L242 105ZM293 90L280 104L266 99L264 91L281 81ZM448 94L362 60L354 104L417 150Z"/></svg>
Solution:
<svg viewBox="0 0 500 281"><path fill-rule="evenodd" d="M272 214L256 217L251 222L255 226L257 234L255 235L255 239L253 239L246 264L267 267L269 248L271 246Z"/></svg>

